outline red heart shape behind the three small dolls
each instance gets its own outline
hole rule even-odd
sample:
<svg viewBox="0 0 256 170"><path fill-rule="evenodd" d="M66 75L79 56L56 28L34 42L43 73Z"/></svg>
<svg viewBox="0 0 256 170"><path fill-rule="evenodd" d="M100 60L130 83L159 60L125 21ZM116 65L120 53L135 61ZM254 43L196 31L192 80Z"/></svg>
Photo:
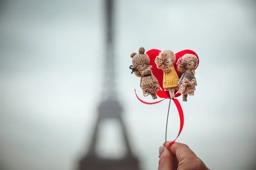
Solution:
<svg viewBox="0 0 256 170"><path fill-rule="evenodd" d="M157 68L157 65L154 62L155 58L159 55L160 52L161 52L160 50L151 49L151 50L147 51L146 54L148 54L148 57L150 59L150 65L152 65L151 70L152 70L154 76L157 78L160 88L162 89L157 93L157 96L159 96L160 98L169 98L170 97L169 92L164 91L164 88L163 88L163 70ZM183 51L180 51L175 54L176 59L175 59L174 67L175 67L175 70L176 70L179 78L182 76L182 74L177 71L178 66L176 63L177 63L177 60L185 54L194 54L198 58L198 55L195 53L195 51L192 51L192 50L183 50ZM199 64L199 58L198 58L198 64ZM197 65L197 67L198 67L198 65ZM178 97L178 96L180 96L180 94L177 93L177 91L175 91L175 97Z"/></svg>

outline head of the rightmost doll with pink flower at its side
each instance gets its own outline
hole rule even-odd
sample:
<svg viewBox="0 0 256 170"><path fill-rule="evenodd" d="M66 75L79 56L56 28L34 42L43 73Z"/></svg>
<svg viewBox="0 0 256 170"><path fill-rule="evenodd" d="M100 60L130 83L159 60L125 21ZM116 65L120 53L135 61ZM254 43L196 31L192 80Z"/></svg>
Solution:
<svg viewBox="0 0 256 170"><path fill-rule="evenodd" d="M184 73L186 70L195 70L198 65L198 59L193 54L185 54L177 61L178 71Z"/></svg>

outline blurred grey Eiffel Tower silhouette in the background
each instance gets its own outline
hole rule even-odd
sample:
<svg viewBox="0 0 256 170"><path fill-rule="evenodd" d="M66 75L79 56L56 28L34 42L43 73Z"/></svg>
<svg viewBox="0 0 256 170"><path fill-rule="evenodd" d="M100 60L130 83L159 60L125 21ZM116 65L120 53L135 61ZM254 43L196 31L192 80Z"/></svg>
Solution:
<svg viewBox="0 0 256 170"><path fill-rule="evenodd" d="M133 156L128 142L126 128L121 117L122 107L117 100L115 70L114 70L114 52L113 52L113 0L105 0L106 6L106 25L107 25L107 51L105 61L105 75L103 100L99 105L99 117L94 129L93 138L86 156L79 162L79 170L139 170L139 161ZM106 119L116 119L121 125L122 134L127 150L122 159L108 159L97 156L96 143L99 131L99 124Z"/></svg>

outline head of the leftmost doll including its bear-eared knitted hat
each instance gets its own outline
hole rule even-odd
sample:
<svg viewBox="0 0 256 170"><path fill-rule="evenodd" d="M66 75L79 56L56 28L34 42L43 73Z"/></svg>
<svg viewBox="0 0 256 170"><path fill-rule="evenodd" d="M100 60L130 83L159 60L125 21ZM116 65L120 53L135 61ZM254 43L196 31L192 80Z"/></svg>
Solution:
<svg viewBox="0 0 256 170"><path fill-rule="evenodd" d="M132 66L135 68L134 74L140 77L139 71L145 70L149 65L149 57L145 54L145 48L140 47L139 53L132 53Z"/></svg>

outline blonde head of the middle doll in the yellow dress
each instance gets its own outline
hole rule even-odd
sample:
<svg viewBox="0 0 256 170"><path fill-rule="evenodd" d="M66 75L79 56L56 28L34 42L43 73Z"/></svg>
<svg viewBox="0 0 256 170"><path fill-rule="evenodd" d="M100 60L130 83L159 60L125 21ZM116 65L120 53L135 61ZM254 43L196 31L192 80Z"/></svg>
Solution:
<svg viewBox="0 0 256 170"><path fill-rule="evenodd" d="M171 50L161 51L156 57L157 68L164 69L165 66L172 66L175 62L175 54Z"/></svg>

